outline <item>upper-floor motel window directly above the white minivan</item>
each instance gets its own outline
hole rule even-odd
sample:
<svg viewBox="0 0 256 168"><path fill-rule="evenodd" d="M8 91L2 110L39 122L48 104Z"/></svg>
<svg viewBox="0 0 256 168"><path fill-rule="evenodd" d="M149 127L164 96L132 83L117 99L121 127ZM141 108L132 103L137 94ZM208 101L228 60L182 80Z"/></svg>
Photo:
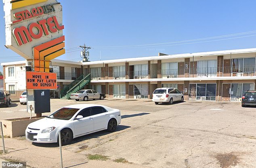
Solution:
<svg viewBox="0 0 256 168"><path fill-rule="evenodd" d="M170 63L162 63L162 75L167 78L175 78L178 74L178 63L170 62Z"/></svg>

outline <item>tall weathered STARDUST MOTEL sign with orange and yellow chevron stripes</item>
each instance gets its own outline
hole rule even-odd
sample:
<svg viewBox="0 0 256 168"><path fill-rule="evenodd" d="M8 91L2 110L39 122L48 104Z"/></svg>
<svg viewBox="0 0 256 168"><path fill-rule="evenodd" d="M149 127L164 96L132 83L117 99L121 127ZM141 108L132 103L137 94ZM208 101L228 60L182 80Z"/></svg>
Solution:
<svg viewBox="0 0 256 168"><path fill-rule="evenodd" d="M6 47L25 59L34 59L35 71L46 72L42 68L65 53L61 4L56 0L3 2Z"/></svg>

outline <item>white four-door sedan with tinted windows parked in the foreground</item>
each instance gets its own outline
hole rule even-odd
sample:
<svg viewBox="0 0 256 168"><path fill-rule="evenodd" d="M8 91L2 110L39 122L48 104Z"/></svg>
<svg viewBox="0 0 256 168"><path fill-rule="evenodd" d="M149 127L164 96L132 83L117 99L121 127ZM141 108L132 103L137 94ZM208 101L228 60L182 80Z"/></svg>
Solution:
<svg viewBox="0 0 256 168"><path fill-rule="evenodd" d="M115 131L121 123L121 113L98 104L69 105L44 119L27 126L26 138L36 143L56 143L61 131L61 143L66 145L73 138L105 130Z"/></svg>

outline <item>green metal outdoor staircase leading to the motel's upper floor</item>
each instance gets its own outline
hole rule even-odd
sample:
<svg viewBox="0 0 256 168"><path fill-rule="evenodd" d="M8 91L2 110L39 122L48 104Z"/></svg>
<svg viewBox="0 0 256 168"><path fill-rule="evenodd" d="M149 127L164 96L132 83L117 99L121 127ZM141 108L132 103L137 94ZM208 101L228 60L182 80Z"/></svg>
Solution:
<svg viewBox="0 0 256 168"><path fill-rule="evenodd" d="M90 85L90 74L84 77L84 75L79 76L76 80L74 80L71 84L63 88L61 90L60 98L61 99L70 99L70 95L72 93L76 93L78 90L84 88L86 84ZM90 88L90 87L89 87Z"/></svg>

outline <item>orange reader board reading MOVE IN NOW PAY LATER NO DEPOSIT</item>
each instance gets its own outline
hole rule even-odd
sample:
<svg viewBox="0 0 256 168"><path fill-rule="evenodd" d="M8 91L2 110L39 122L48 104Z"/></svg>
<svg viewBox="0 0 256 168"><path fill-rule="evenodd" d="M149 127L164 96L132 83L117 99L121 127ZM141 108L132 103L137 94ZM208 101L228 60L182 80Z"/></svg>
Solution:
<svg viewBox="0 0 256 168"><path fill-rule="evenodd" d="M27 89L57 89L57 74L26 72Z"/></svg>

